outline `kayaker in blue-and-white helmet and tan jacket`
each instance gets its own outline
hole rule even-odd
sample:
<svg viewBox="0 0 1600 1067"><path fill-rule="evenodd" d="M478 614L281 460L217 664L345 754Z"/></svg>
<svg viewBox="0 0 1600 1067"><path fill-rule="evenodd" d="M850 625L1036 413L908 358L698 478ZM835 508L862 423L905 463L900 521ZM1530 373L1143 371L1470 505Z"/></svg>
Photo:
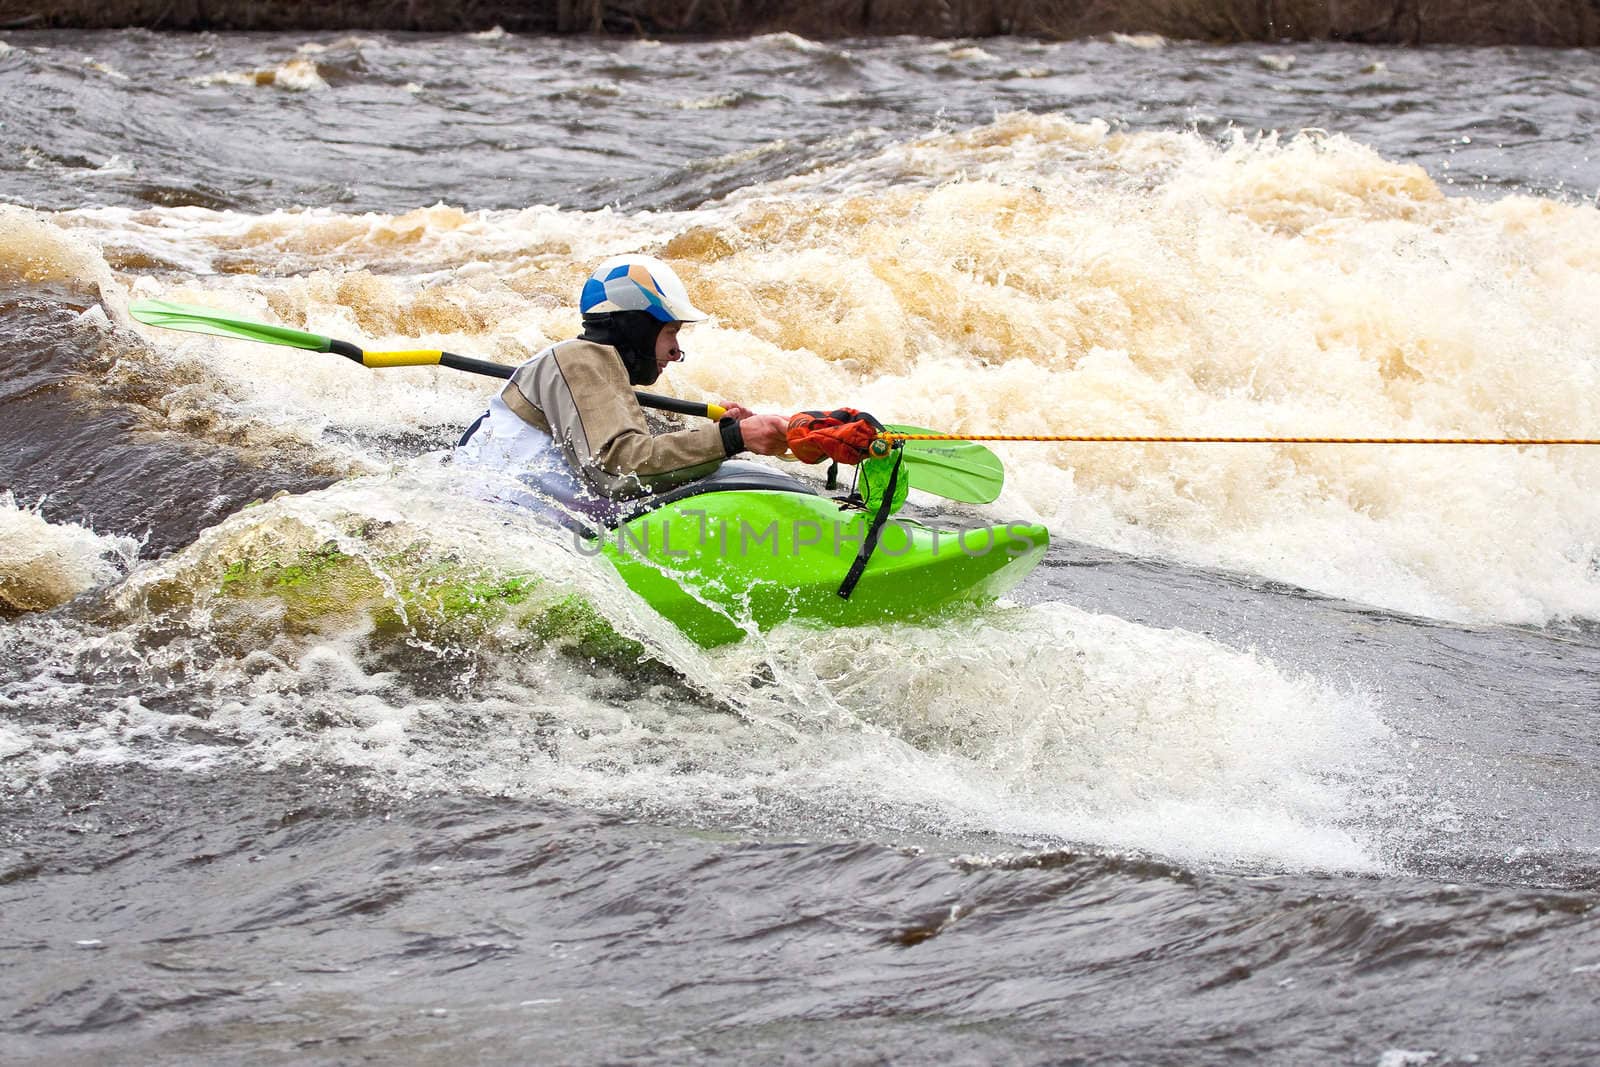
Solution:
<svg viewBox="0 0 1600 1067"><path fill-rule="evenodd" d="M701 478L728 456L787 451L787 418L736 403L723 405L720 422L650 430L634 387L682 360L678 331L706 318L672 267L651 256L613 256L584 282L578 309L582 333L517 368L462 435L459 459L510 472L603 518L610 502Z"/></svg>

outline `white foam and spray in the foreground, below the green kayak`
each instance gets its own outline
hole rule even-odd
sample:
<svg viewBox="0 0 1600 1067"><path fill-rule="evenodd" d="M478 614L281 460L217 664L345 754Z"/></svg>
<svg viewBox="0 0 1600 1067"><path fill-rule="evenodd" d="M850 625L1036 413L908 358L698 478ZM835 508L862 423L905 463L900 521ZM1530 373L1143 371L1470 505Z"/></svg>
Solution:
<svg viewBox="0 0 1600 1067"><path fill-rule="evenodd" d="M784 832L821 819L1195 862L1374 864L1357 782L1386 729L1360 694L1066 605L933 627L781 627L701 649L566 534L462 496L459 477L421 461L280 498L142 566L110 598L122 619L110 630L37 635L80 665L11 699L75 721L67 710L96 697L67 680L74 670L125 664L138 680L91 721L8 725L0 752L13 755L0 766L48 784L75 763L310 763L402 793L555 798ZM373 595L349 574L306 587L304 603L322 603L310 616L219 592L242 560L288 565L323 545L378 577L379 605L395 606L410 635L378 633L363 606ZM398 568L443 563L490 581L541 576L542 603L579 597L683 685L650 672L642 683L626 657L531 641L510 616L470 637L430 635L414 600L402 608ZM203 718L152 712L141 694L163 678L216 694L200 697ZM195 741L206 731L226 744Z"/></svg>

